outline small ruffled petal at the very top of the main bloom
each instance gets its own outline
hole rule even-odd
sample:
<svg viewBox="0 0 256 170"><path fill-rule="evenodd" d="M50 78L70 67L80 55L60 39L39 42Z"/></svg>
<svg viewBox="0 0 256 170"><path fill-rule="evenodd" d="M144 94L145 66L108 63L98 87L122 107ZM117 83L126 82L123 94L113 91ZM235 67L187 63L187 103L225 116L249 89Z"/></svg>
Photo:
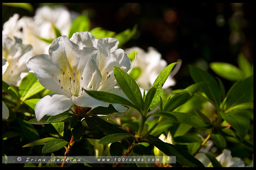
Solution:
<svg viewBox="0 0 256 170"><path fill-rule="evenodd" d="M90 32L76 32L72 35L70 41L76 43L80 50L83 47L97 47L97 39Z"/></svg>

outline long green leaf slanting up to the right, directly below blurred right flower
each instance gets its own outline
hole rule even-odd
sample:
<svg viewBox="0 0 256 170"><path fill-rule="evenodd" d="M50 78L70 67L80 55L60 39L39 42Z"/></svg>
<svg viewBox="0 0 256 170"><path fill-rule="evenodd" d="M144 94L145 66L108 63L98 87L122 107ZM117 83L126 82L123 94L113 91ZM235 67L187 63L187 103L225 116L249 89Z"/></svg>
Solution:
<svg viewBox="0 0 256 170"><path fill-rule="evenodd" d="M198 82L188 86L186 89L182 90L180 93L177 93L173 97L167 100L164 105L164 111L173 111L180 105L186 103L190 97L192 97L197 90L199 90L207 81Z"/></svg>

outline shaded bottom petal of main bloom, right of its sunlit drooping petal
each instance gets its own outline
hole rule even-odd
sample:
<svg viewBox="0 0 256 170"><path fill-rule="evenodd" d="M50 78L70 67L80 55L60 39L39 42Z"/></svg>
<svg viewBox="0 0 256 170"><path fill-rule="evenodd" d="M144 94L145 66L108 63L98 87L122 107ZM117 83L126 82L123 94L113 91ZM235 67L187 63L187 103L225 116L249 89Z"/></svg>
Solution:
<svg viewBox="0 0 256 170"><path fill-rule="evenodd" d="M92 90L90 88L85 88L85 89L86 90ZM85 91L84 91L82 96L79 96L79 97L72 96L71 100L77 106L82 106L82 107L94 107L94 106L108 107L109 106L108 103L102 102L100 100L97 100L97 99L89 96Z"/></svg>

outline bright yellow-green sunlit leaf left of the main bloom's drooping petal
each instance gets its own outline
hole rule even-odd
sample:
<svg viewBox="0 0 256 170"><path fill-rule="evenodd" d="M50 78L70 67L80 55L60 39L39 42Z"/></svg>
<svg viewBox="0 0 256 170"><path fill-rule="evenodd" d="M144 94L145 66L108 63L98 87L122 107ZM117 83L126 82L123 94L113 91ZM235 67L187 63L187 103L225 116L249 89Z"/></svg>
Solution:
<svg viewBox="0 0 256 170"><path fill-rule="evenodd" d="M44 90L44 87L38 82L38 79L34 73L28 73L28 75L25 76L20 83L20 99L25 101L27 98L39 93L42 90Z"/></svg>

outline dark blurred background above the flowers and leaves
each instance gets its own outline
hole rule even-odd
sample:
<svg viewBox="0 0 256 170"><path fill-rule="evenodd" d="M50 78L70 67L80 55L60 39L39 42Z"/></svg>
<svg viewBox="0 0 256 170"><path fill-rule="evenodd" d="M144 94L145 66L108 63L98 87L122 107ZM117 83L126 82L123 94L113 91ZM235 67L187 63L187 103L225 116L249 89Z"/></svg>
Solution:
<svg viewBox="0 0 256 170"><path fill-rule="evenodd" d="M120 33L138 25L136 34L122 49L138 46L156 48L168 62L182 59L180 71L174 76L173 89L193 84L188 64L217 76L211 62L227 62L237 66L242 52L253 64L252 3L47 3L65 5L69 10L88 14L91 29L102 27ZM32 3L34 11L45 3ZM21 8L2 6L2 24L14 13L34 16ZM230 88L233 82L221 79Z"/></svg>

